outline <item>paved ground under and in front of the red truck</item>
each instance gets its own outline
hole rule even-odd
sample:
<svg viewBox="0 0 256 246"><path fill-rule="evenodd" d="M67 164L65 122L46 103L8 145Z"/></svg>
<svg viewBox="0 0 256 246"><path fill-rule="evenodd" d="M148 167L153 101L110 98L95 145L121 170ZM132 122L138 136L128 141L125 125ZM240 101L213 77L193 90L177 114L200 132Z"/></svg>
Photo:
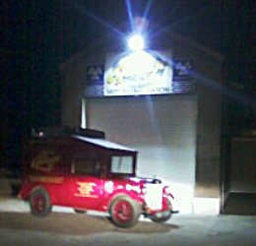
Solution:
<svg viewBox="0 0 256 246"><path fill-rule="evenodd" d="M141 219L133 228L120 229L102 215L76 215L62 208L54 211L37 218L28 213L26 203L1 198L0 245L251 246L256 242L256 216L173 215L164 224Z"/></svg>

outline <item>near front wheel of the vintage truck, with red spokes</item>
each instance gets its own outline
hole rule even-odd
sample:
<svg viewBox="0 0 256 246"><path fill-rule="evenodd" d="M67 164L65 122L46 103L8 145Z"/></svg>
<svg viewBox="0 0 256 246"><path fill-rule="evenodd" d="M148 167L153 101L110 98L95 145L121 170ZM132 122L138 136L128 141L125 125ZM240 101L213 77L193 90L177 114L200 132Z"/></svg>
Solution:
<svg viewBox="0 0 256 246"><path fill-rule="evenodd" d="M140 214L139 204L126 196L116 198L110 207L110 220L118 227L133 226L137 223Z"/></svg>

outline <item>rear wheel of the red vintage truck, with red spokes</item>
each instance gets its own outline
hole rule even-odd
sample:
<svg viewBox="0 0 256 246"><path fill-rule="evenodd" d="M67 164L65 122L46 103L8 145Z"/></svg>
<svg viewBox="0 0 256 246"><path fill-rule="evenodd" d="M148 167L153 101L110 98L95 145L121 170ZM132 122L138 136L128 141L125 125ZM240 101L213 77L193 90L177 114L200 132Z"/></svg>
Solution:
<svg viewBox="0 0 256 246"><path fill-rule="evenodd" d="M32 215L48 215L51 212L51 205L48 193L42 188L38 188L32 191L30 197L30 206Z"/></svg>

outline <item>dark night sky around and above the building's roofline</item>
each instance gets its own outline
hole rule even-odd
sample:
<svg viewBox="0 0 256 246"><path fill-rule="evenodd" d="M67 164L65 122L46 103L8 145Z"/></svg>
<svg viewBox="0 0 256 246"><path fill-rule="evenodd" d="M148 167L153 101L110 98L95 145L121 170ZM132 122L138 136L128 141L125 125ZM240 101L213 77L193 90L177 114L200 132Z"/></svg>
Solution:
<svg viewBox="0 0 256 246"><path fill-rule="evenodd" d="M32 127L60 123L59 64L104 35L121 42L116 29L130 30L127 2L134 16L148 6L155 38L173 30L219 51L227 82L239 84L245 94L256 92L253 1L1 1L0 166L19 165L20 143Z"/></svg>

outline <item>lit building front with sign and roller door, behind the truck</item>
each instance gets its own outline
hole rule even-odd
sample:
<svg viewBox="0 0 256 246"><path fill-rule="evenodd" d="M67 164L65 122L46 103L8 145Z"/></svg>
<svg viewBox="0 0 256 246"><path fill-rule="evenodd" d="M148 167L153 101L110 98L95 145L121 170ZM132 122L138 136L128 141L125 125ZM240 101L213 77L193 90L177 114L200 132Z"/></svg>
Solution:
<svg viewBox="0 0 256 246"><path fill-rule="evenodd" d="M163 42L62 64L62 124L138 150L138 175L168 183L181 214L219 214L222 57L176 34Z"/></svg>

